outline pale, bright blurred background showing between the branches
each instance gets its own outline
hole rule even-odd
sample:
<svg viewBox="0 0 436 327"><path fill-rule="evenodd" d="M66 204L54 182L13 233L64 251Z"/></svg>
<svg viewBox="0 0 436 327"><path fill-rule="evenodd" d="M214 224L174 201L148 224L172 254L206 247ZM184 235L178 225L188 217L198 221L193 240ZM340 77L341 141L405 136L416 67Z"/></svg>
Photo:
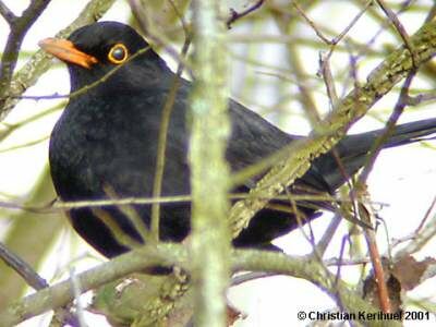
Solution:
<svg viewBox="0 0 436 327"><path fill-rule="evenodd" d="M2 1L16 15L29 1ZM165 4L166 1L142 1L149 17L150 33L162 40L165 47L156 50L175 68L168 49L179 51L183 44L180 20ZM230 9L242 12L257 1L227 1ZM38 50L38 40L53 36L81 13L85 0L52 0L41 16L28 31L22 45L19 69ZM173 1L185 21L190 21L189 1ZM401 37L377 4L363 0L299 1L300 10L328 40L338 37L360 14L351 29L334 48L314 31L292 1L270 0L251 14L234 22L228 31L230 53L230 81L232 97L270 122L292 134L307 134L312 130L310 109L319 116L331 110L326 86L319 74L319 58L332 50L329 59L331 74L339 98L347 95L356 83L365 83L368 73L393 49L402 45ZM385 1L412 35L434 10L434 1ZM365 10L366 9L366 10ZM365 10L365 11L364 11ZM364 11L364 12L363 12ZM135 25L126 1L116 1L102 20L126 22ZM136 25L137 26L137 25ZM9 26L0 19L0 45L7 43ZM1 48L3 48L2 46ZM434 61L421 68L413 80L411 94L434 94L436 81ZM384 126L399 97L398 86L382 98L370 113L354 124L350 133ZM65 66L55 61L28 96L49 96L69 93ZM22 99L0 124L0 240L28 262L49 283L65 279L74 271L83 271L105 261L82 241L59 211L20 209L23 206L49 206L56 198L48 170L48 140L53 123L64 106L62 99ZM434 101L408 107L400 121L414 121L435 117ZM370 194L385 226L377 230L380 253L387 254L389 244L413 234L431 210L436 196L436 143L422 142L385 150L368 180ZM429 214L427 213L429 211ZM332 216L325 214L312 223L315 239L320 238ZM338 257L343 238L350 226L342 222L326 253L327 258ZM307 228L305 229L307 232ZM366 253L362 237L355 237L354 246L346 246L346 256L353 252ZM361 243L361 244L360 244ZM305 235L296 230L276 242L289 254L307 254L312 251ZM360 244L360 246L359 246ZM393 254L404 243L391 249ZM417 259L435 254L435 241L415 254ZM335 267L331 267L336 271ZM370 267L365 268L367 271ZM361 266L342 267L341 277L361 287ZM23 280L0 262L0 311L10 301L33 292ZM436 311L436 281L429 279L404 294L409 310ZM84 295L84 302L90 295ZM229 291L230 302L246 314L234 326L306 326L299 322L300 311L335 308L335 302L307 281L291 277L269 277L243 283ZM89 325L105 326L101 316L86 313ZM21 326L47 326L50 315L23 323ZM405 322L405 326L434 326L428 322ZM318 325L317 325L318 326Z"/></svg>

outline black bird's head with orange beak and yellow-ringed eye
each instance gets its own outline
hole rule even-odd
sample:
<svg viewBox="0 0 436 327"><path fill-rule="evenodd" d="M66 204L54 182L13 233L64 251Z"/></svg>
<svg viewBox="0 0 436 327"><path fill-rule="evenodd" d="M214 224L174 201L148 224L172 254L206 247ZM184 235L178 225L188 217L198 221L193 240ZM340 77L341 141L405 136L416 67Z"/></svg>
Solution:
<svg viewBox="0 0 436 327"><path fill-rule="evenodd" d="M125 88L125 83L144 85L157 78L158 70L166 69L136 31L118 22L86 25L68 39L46 38L39 46L68 64L72 92L95 82L110 92L113 87ZM124 85L114 85L121 82Z"/></svg>

